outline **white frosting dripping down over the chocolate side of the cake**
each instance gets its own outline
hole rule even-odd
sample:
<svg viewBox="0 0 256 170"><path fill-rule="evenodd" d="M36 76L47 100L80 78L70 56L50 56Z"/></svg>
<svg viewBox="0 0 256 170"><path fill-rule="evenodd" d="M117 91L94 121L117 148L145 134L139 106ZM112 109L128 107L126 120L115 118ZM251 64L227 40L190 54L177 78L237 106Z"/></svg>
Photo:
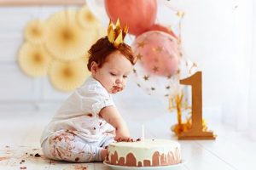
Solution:
<svg viewBox="0 0 256 170"><path fill-rule="evenodd" d="M127 154L132 153L136 157L137 163L138 161L141 161L142 164L143 160L151 161L152 156L156 151L158 151L160 155L165 154L166 156L172 153L172 157L176 162L181 160L180 144L168 139L145 139L137 142L118 142L109 144L109 156L113 155L115 151L118 154L118 160L120 157L126 158ZM152 164L152 162L150 162L150 164Z"/></svg>

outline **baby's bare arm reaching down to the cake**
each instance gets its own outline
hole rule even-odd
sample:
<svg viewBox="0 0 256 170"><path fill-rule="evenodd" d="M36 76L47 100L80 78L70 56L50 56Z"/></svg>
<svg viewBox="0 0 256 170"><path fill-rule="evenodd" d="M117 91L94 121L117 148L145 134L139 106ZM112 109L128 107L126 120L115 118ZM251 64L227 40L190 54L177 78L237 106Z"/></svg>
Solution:
<svg viewBox="0 0 256 170"><path fill-rule="evenodd" d="M120 116L119 111L114 106L104 107L100 111L100 116L115 128L116 140L131 139L124 119Z"/></svg>

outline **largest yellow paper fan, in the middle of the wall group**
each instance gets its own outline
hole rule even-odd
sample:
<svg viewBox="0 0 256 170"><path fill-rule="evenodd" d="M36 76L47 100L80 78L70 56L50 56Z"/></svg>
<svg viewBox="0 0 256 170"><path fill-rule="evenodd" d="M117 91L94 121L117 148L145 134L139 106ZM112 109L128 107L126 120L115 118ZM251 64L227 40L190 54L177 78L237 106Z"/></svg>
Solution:
<svg viewBox="0 0 256 170"><path fill-rule="evenodd" d="M65 10L51 15L48 20L45 46L56 59L79 59L92 45L94 35L79 26L76 16L76 11Z"/></svg>

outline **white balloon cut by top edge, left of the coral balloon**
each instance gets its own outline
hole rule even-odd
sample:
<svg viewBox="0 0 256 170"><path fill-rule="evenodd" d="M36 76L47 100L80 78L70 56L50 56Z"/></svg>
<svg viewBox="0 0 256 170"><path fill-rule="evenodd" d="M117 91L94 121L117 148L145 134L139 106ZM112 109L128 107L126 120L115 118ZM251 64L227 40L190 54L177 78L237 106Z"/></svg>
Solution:
<svg viewBox="0 0 256 170"><path fill-rule="evenodd" d="M108 14L106 13L103 0L85 0L90 12L102 21L102 26L108 26Z"/></svg>

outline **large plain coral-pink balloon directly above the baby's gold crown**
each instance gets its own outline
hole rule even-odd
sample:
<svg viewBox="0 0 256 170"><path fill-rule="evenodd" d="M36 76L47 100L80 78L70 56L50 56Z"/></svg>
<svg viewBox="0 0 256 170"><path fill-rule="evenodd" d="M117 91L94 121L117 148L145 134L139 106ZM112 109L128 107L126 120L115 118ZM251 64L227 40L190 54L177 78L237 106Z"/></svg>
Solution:
<svg viewBox="0 0 256 170"><path fill-rule="evenodd" d="M157 11L156 0L105 0L105 8L111 20L119 18L121 26L127 24L133 35L152 26Z"/></svg>

